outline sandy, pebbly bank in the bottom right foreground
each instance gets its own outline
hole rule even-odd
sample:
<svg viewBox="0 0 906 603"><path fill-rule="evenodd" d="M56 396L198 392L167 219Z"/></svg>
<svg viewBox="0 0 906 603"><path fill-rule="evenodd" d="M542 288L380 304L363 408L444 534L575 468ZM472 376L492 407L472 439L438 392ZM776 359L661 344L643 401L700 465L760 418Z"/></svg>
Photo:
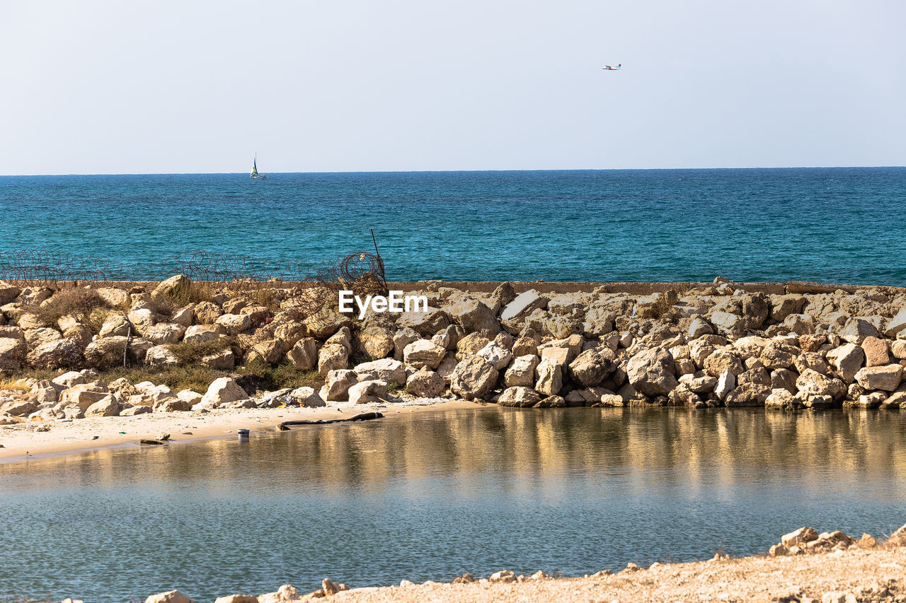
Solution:
<svg viewBox="0 0 906 603"><path fill-rule="evenodd" d="M510 583L483 579L470 584L428 582L380 589L352 589L328 599L338 603L906 601L904 568L904 547L853 548L795 557L764 556L655 564L647 570L623 570L613 575L573 579L526 578L525 582Z"/></svg>

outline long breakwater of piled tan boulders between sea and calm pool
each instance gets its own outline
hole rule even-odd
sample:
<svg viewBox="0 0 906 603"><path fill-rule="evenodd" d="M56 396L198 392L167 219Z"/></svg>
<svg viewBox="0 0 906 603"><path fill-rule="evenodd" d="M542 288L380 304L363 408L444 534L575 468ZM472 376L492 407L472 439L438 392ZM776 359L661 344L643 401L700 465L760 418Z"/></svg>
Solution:
<svg viewBox="0 0 906 603"><path fill-rule="evenodd" d="M261 291L228 290L177 303L189 286L179 275L130 291L76 289L90 292L94 307L70 302L75 309L58 311L51 324L48 309L68 307L59 301L72 289L0 283L0 370L75 370L85 381L17 382L28 391L0 398L0 420L153 410L168 400L168 410L234 404L248 397L234 371L254 363L316 371L320 391L276 396L306 406L387 401L403 391L510 407L906 405L906 293L890 288L766 294L718 279L639 296L603 287L516 294L509 283L479 293L424 282L418 293L428 311L372 310L360 321L333 307L306 313L311 291L303 289L274 288L267 305L256 302ZM101 385L83 372L124 357L149 370L198 364L222 377L196 393Z"/></svg>

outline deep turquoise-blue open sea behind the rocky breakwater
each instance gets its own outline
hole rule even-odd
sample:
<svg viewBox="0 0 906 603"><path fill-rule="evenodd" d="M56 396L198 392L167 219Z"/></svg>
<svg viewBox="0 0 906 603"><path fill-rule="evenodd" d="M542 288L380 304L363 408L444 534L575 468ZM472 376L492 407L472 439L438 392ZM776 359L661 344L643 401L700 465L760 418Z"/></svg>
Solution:
<svg viewBox="0 0 906 603"><path fill-rule="evenodd" d="M391 281L906 285L906 168L0 177L0 253L371 251Z"/></svg>

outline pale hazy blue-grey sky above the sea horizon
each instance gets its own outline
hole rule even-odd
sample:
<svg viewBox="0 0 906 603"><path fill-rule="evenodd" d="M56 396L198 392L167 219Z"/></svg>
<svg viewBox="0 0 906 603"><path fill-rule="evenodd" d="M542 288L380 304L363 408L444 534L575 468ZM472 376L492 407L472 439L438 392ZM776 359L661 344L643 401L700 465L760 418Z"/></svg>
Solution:
<svg viewBox="0 0 906 603"><path fill-rule="evenodd" d="M906 165L900 0L0 14L0 174Z"/></svg>

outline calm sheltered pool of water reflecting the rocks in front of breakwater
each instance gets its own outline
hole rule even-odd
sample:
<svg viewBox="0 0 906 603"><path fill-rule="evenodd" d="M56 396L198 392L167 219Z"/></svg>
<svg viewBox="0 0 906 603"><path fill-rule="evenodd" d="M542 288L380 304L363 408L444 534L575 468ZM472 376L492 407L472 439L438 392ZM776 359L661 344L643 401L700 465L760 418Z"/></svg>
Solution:
<svg viewBox="0 0 906 603"><path fill-rule="evenodd" d="M906 522L898 413L487 407L0 465L0 594L194 598L764 551Z"/></svg>

